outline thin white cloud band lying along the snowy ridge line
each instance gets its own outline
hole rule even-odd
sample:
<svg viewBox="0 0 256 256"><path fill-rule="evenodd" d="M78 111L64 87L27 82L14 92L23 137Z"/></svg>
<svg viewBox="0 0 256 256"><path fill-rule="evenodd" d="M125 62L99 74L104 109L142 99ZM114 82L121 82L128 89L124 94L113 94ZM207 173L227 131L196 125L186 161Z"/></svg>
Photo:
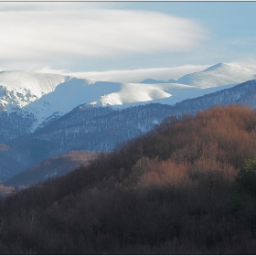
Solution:
<svg viewBox="0 0 256 256"><path fill-rule="evenodd" d="M69 72L67 70L51 69L46 67L37 69L37 72L58 73L89 80L107 80L119 82L140 82L145 79L170 80L204 69L210 65L184 65L174 68L108 70L101 72Z"/></svg>

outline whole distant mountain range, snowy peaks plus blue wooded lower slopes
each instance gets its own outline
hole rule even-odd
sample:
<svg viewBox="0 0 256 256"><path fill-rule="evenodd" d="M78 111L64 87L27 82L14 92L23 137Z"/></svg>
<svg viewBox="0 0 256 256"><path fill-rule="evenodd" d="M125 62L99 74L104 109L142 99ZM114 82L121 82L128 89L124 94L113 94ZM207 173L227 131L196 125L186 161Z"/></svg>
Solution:
<svg viewBox="0 0 256 256"><path fill-rule="evenodd" d="M169 115L255 108L256 66L219 63L178 80L118 83L0 72L0 179L70 150L112 151Z"/></svg>

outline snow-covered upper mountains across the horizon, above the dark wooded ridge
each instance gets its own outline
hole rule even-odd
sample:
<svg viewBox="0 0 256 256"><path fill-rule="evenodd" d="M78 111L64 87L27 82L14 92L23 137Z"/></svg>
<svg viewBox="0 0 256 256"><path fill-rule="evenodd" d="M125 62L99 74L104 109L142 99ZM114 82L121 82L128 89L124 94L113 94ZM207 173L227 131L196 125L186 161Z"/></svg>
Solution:
<svg viewBox="0 0 256 256"><path fill-rule="evenodd" d="M256 66L227 63L187 74L178 80L148 79L141 83L3 71L0 72L0 118L2 116L4 121L2 124L0 122L0 128L5 130L7 127L7 130L2 132L5 135L0 134L0 141L33 132L37 127L50 123L80 104L112 106L118 109L150 102L173 105L230 88L245 80L252 80L255 76ZM8 127L8 123L12 125Z"/></svg>

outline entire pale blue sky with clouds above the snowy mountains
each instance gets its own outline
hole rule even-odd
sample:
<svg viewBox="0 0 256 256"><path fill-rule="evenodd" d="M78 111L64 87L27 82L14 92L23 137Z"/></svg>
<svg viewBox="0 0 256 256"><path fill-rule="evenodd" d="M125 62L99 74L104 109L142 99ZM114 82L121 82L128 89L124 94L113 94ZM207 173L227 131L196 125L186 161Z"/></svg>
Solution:
<svg viewBox="0 0 256 256"><path fill-rule="evenodd" d="M0 2L0 70L178 79L256 65L256 2Z"/></svg>

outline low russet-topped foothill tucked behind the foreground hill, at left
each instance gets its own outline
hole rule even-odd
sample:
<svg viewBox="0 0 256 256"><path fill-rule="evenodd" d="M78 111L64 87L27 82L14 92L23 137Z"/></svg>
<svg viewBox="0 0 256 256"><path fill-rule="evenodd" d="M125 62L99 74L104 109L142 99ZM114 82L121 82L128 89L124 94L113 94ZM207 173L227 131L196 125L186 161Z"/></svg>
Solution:
<svg viewBox="0 0 256 256"><path fill-rule="evenodd" d="M6 180L4 185L27 186L51 177L62 176L79 165L88 164L94 156L95 153L90 151L70 151L64 155L50 157Z"/></svg>

